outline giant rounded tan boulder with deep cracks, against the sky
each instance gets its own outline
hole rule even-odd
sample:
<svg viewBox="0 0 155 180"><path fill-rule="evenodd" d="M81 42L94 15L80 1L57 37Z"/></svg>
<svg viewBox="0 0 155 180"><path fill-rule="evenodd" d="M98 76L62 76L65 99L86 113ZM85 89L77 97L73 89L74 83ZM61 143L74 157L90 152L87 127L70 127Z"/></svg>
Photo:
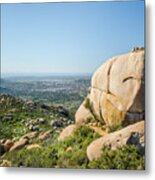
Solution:
<svg viewBox="0 0 155 180"><path fill-rule="evenodd" d="M92 113L109 126L144 118L144 49L111 58L99 67L87 98L91 109L80 106L78 124Z"/></svg>

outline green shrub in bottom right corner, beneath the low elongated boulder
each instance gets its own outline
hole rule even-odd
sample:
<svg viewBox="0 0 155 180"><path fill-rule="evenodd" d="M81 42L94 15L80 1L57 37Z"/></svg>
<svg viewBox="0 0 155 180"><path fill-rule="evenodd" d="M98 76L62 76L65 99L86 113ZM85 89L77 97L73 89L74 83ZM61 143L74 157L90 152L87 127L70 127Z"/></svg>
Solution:
<svg viewBox="0 0 155 180"><path fill-rule="evenodd" d="M124 146L117 150L110 150L105 147L101 158L90 162L89 168L144 170L145 162L144 156L134 145Z"/></svg>

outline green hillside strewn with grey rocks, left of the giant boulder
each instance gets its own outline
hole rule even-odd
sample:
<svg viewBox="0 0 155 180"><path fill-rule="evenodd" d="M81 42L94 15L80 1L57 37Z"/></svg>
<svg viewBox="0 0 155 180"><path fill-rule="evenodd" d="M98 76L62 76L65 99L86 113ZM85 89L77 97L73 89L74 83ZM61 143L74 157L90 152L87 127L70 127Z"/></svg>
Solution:
<svg viewBox="0 0 155 180"><path fill-rule="evenodd" d="M46 139L72 124L69 112L62 106L47 106L24 101L8 94L0 95L0 154L27 144L36 136ZM21 141L21 139L28 139ZM15 147L14 147L15 146Z"/></svg>

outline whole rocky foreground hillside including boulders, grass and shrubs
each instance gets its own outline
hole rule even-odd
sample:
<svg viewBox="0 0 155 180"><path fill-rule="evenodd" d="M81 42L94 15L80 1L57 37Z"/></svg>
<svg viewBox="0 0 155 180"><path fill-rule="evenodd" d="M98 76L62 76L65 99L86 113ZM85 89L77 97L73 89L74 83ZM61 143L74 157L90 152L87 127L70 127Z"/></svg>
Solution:
<svg viewBox="0 0 155 180"><path fill-rule="evenodd" d="M144 48L94 73L75 114L0 95L0 166L145 169Z"/></svg>

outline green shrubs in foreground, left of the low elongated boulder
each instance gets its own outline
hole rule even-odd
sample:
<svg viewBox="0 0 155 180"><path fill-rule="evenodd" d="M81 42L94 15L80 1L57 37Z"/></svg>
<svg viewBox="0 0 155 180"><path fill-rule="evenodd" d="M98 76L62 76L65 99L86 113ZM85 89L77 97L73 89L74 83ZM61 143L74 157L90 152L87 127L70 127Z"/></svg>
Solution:
<svg viewBox="0 0 155 180"><path fill-rule="evenodd" d="M82 127L73 137L68 137L63 142L56 141L41 149L8 152L5 159L16 167L86 168L88 164L86 148L96 138L99 138L99 135L93 130Z"/></svg>

